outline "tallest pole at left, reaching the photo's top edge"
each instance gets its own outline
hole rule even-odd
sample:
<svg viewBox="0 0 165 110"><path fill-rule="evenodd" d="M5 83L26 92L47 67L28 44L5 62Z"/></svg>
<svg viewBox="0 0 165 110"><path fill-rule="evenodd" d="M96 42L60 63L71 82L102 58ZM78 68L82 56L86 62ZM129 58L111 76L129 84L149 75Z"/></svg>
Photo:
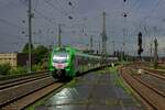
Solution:
<svg viewBox="0 0 165 110"><path fill-rule="evenodd" d="M29 0L29 73L32 72L32 1Z"/></svg>

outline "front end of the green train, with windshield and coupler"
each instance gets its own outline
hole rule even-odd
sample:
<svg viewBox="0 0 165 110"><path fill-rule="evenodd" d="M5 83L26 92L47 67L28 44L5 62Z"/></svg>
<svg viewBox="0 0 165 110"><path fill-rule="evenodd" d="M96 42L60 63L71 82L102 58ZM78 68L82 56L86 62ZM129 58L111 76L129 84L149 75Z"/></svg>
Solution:
<svg viewBox="0 0 165 110"><path fill-rule="evenodd" d="M65 79L70 73L70 55L67 51L53 53L51 57L51 72L54 78Z"/></svg>

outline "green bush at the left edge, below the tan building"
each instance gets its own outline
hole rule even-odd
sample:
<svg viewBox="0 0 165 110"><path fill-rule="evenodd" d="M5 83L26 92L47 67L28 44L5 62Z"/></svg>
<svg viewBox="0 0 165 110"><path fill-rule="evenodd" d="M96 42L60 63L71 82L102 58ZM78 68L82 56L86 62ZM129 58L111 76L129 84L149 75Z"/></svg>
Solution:
<svg viewBox="0 0 165 110"><path fill-rule="evenodd" d="M0 65L0 75L9 75L11 66L10 64L1 64Z"/></svg>

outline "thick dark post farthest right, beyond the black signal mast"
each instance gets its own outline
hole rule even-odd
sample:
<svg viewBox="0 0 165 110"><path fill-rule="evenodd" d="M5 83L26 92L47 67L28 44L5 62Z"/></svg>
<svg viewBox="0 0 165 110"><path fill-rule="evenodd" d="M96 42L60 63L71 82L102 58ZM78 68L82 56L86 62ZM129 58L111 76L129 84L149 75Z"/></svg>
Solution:
<svg viewBox="0 0 165 110"><path fill-rule="evenodd" d="M157 38L155 37L154 40L154 68L155 69L157 68L157 59L158 59L157 46L158 46L158 43L157 43Z"/></svg>

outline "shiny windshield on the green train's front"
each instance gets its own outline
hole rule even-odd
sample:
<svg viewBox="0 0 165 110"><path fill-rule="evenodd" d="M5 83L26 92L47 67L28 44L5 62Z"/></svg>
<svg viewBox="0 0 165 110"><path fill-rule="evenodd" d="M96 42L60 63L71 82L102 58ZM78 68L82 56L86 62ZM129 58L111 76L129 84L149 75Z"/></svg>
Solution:
<svg viewBox="0 0 165 110"><path fill-rule="evenodd" d="M56 52L53 56L53 63L67 63L69 58L68 52Z"/></svg>

